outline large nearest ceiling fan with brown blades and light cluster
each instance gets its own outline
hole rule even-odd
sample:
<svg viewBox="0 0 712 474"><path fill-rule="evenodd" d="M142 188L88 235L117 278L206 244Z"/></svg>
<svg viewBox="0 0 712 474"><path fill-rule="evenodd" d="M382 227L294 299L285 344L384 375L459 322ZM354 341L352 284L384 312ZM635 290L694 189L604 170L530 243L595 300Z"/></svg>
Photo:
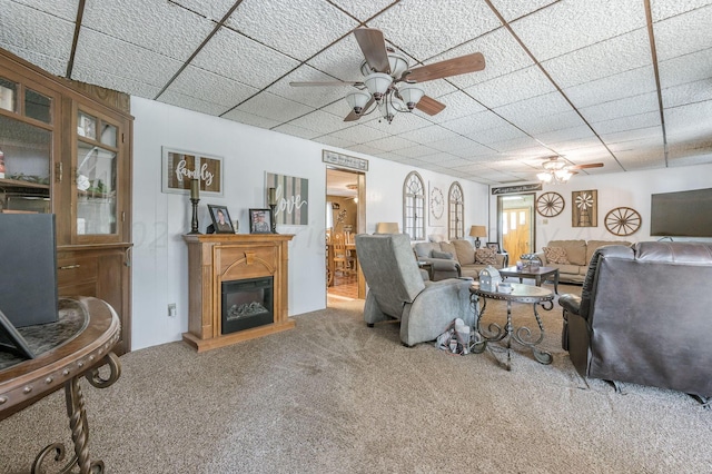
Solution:
<svg viewBox="0 0 712 474"><path fill-rule="evenodd" d="M485 68L485 58L481 52L474 52L411 69L404 55L386 47L380 30L357 28L354 36L365 58L360 65L364 80L289 82L293 87L355 87L357 90L346 96L352 111L344 121L358 120L374 110L379 110L388 124L395 112L409 112L416 108L434 116L443 111L445 105L426 96L425 91L416 86L417 82L481 71Z"/></svg>

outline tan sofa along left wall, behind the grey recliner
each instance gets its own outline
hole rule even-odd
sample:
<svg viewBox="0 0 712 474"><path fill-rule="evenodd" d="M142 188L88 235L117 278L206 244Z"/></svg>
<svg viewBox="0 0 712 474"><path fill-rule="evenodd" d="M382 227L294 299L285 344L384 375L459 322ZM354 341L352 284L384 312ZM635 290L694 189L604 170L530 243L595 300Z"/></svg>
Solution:
<svg viewBox="0 0 712 474"><path fill-rule="evenodd" d="M487 266L487 264L476 260L475 247L469 240L422 241L415 244L413 249L418 260L427 261L433 266L433 279L435 282L457 277L478 279L479 270ZM443 258L448 255L452 258ZM495 264L492 265L493 267L506 267L506 254L495 254L494 257Z"/></svg>

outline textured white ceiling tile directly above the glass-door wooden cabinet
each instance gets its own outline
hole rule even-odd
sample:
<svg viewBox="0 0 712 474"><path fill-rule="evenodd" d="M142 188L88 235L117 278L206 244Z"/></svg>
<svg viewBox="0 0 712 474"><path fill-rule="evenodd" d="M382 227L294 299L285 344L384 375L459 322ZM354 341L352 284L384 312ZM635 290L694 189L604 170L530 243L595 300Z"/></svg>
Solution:
<svg viewBox="0 0 712 474"><path fill-rule="evenodd" d="M175 59L82 28L72 79L152 99L155 96L144 95L146 88L135 87L147 85L160 90L180 66Z"/></svg>

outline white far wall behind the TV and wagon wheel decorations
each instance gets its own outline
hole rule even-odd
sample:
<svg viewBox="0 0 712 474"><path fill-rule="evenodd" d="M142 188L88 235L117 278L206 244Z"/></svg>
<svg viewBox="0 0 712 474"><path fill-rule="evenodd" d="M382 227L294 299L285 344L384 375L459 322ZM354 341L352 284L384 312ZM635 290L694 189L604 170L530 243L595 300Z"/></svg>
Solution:
<svg viewBox="0 0 712 474"><path fill-rule="evenodd" d="M586 176L575 175L566 185L544 185L542 192L558 192L565 203L564 210L556 217L542 217L536 214L536 251L550 240L584 239L584 240L656 240L650 236L650 204L651 195L672 192L688 189L709 188L712 186L712 165L650 169L642 171L616 172L610 175ZM571 226L571 192L580 190L597 190L599 225L597 227ZM641 228L627 237L617 237L606 230L604 219L606 214L616 207L631 207L641 215ZM490 227L493 236L497 231L497 199L491 199ZM675 240L682 240L675 238ZM709 239L703 239L709 240Z"/></svg>

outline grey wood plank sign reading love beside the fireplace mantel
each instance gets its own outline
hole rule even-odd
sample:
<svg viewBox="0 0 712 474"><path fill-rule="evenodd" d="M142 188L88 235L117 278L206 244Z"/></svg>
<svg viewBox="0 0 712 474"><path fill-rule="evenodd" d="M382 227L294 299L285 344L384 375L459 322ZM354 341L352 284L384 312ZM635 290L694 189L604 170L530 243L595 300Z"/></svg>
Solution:
<svg viewBox="0 0 712 474"><path fill-rule="evenodd" d="M309 224L309 180L293 176L265 174L265 200L267 189L276 189L275 224L306 226ZM266 203L269 205L269 203Z"/></svg>

